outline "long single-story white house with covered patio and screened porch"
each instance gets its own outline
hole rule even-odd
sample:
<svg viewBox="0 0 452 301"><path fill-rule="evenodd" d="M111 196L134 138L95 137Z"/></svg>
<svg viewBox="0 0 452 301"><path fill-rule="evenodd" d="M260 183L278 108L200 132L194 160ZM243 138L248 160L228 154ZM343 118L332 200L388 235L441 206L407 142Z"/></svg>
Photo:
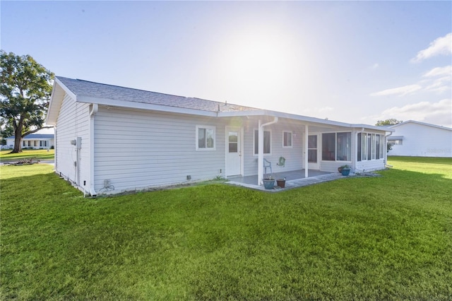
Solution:
<svg viewBox="0 0 452 301"><path fill-rule="evenodd" d="M381 170L391 129L57 76L55 169L86 194L273 172ZM280 158L285 164L276 165Z"/></svg>

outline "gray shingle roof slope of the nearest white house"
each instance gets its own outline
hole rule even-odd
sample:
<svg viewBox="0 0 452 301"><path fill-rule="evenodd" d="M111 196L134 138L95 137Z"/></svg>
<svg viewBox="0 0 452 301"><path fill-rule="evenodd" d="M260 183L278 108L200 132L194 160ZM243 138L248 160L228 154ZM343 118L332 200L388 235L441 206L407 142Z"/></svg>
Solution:
<svg viewBox="0 0 452 301"><path fill-rule="evenodd" d="M103 98L109 100L122 100L129 102L148 103L150 105L165 105L168 107L180 107L184 109L202 110L208 112L237 112L258 110L253 107L232 105L225 102L203 100L201 98L186 98L183 96L155 93L133 88L124 88L105 83L94 83L81 79L65 78L57 76L59 81L66 85L75 95Z"/></svg>

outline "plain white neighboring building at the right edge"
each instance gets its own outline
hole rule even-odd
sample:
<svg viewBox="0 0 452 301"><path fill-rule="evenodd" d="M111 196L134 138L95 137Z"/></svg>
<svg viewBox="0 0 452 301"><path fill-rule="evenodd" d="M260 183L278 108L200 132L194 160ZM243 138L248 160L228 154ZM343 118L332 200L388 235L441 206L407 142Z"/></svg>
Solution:
<svg viewBox="0 0 452 301"><path fill-rule="evenodd" d="M452 157L451 128L413 120L389 128L396 130L396 133L388 136L388 143L392 147L388 155Z"/></svg>

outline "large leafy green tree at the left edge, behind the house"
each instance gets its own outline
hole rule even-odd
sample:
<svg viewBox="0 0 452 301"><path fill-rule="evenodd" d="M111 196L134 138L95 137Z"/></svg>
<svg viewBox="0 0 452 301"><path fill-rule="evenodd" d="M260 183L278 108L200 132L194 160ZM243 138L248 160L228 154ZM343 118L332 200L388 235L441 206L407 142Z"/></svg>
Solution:
<svg viewBox="0 0 452 301"><path fill-rule="evenodd" d="M14 132L12 153L22 151L22 138L40 129L47 113L54 73L29 55L18 56L0 50L1 132Z"/></svg>

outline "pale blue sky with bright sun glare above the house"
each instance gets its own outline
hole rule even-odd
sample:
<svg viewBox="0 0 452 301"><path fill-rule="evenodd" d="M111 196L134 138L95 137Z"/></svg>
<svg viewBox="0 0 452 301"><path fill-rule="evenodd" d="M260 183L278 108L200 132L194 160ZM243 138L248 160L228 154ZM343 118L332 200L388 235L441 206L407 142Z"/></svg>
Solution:
<svg viewBox="0 0 452 301"><path fill-rule="evenodd" d="M57 76L354 124L452 127L451 1L0 1Z"/></svg>

